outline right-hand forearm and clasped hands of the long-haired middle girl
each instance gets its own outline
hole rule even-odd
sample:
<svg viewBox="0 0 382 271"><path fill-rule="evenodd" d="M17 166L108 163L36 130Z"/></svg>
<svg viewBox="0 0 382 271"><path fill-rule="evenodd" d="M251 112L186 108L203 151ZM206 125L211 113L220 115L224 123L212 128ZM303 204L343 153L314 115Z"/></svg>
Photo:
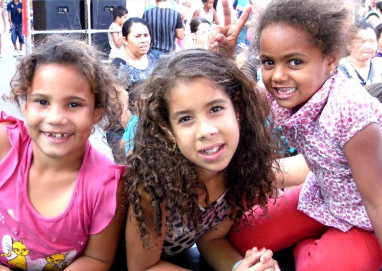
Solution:
<svg viewBox="0 0 382 271"><path fill-rule="evenodd" d="M200 253L214 270L232 271L234 265L240 260L242 262L235 268L235 271L247 270L248 268L253 271L263 271L277 265L277 262L272 259L272 251L265 249L263 251L257 251L257 249L247 251L245 259L243 259L239 251L227 239L232 223L229 218L224 219L215 228L203 234L197 242ZM258 263L260 257L262 257L262 262ZM277 268L275 270L279 271L280 269Z"/></svg>

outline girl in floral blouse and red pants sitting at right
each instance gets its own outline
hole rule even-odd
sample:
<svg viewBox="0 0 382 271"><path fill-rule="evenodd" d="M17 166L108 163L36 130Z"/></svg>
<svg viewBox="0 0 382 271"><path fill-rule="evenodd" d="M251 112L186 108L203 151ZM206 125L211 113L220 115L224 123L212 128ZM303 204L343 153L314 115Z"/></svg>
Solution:
<svg viewBox="0 0 382 271"><path fill-rule="evenodd" d="M382 105L336 68L348 5L273 0L257 29L275 124L311 172L253 221L253 231L244 222L230 240L242 254L296 244L298 271L382 267Z"/></svg>

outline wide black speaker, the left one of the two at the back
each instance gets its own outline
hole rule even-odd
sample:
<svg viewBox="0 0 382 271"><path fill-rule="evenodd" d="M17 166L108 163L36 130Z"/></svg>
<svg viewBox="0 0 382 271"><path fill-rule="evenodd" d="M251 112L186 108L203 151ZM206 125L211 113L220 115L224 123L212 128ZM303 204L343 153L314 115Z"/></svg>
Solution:
<svg viewBox="0 0 382 271"><path fill-rule="evenodd" d="M35 30L80 30L84 24L84 0L33 0Z"/></svg>

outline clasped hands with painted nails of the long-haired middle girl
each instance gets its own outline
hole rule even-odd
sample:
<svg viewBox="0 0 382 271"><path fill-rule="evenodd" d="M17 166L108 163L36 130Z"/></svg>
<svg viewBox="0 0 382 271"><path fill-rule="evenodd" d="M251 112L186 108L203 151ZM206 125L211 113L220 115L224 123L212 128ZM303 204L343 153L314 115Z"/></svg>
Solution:
<svg viewBox="0 0 382 271"><path fill-rule="evenodd" d="M234 271L281 271L280 267L277 264L277 261L272 258L272 250L262 249L258 250L257 247L253 247L250 250L247 250L245 257Z"/></svg>

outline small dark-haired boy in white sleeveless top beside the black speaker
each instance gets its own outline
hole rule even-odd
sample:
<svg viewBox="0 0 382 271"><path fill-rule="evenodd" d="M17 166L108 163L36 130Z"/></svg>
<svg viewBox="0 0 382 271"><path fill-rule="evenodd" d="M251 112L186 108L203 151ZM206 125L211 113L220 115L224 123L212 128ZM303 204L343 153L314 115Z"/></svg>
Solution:
<svg viewBox="0 0 382 271"><path fill-rule="evenodd" d="M113 9L114 22L110 25L109 30L116 32L107 33L109 45L111 47L109 58L114 59L119 50L124 49L124 38L122 36L122 26L127 20L127 9L123 6L116 6Z"/></svg>

